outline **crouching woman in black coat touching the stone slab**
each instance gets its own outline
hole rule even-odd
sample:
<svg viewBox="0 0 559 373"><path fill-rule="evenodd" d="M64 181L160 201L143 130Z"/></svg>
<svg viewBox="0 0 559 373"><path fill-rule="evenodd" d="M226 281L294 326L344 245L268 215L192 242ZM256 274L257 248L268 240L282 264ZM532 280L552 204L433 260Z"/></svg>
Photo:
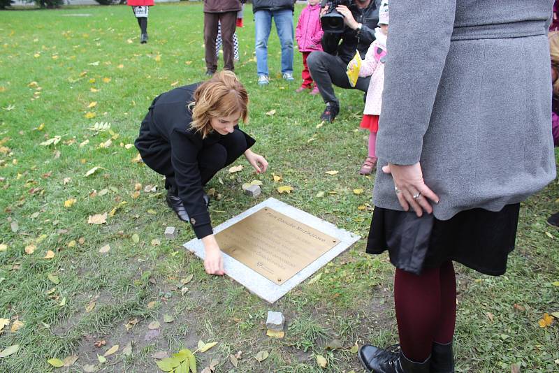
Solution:
<svg viewBox="0 0 559 373"><path fill-rule="evenodd" d="M134 142L144 163L165 176L167 204L202 240L204 267L212 275L223 275L224 268L203 186L242 154L256 173L268 168L266 159L249 149L255 140L238 126L248 120L247 104L235 74L221 71L154 98Z"/></svg>

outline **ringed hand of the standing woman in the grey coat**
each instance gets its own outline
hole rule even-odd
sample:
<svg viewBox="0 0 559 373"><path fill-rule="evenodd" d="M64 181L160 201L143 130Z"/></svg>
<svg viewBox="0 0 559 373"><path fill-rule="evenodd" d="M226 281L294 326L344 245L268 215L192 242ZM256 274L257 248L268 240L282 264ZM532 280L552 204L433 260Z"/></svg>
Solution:
<svg viewBox="0 0 559 373"><path fill-rule="evenodd" d="M411 166L398 166L389 163L382 168L384 173L391 173L394 180L394 191L398 196L398 201L404 210L408 211L411 206L418 217L423 215L423 210L428 214L433 212L433 207L429 203L439 203L439 197L423 182L421 165L415 163Z"/></svg>

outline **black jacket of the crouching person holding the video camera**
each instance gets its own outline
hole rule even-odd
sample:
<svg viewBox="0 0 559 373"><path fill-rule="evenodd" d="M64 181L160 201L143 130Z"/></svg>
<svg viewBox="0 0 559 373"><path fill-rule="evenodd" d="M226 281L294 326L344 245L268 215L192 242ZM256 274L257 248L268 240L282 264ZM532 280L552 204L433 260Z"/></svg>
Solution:
<svg viewBox="0 0 559 373"><path fill-rule="evenodd" d="M325 32L322 36L322 47L324 52L340 56L346 64L354 58L355 50L359 51L361 58L365 58L369 45L375 41L375 28L379 23L379 6L381 0L371 0L365 9L351 6L351 14L357 22L363 24L361 31L345 27L342 34ZM340 43L340 40L342 43Z"/></svg>

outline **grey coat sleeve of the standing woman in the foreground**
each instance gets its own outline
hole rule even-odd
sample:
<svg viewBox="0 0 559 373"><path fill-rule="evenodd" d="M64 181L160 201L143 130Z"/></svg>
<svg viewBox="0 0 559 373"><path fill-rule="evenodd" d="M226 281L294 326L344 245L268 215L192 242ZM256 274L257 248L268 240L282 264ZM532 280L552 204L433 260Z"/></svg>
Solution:
<svg viewBox="0 0 559 373"><path fill-rule="evenodd" d="M379 159L398 165L419 162L455 11L456 0L390 3L389 53L377 134Z"/></svg>

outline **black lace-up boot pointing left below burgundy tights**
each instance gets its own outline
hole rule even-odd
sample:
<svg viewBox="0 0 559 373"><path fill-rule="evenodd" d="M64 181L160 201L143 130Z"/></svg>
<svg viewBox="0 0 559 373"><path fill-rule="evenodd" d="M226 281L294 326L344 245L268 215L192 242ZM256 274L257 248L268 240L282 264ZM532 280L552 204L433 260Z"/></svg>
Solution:
<svg viewBox="0 0 559 373"><path fill-rule="evenodd" d="M361 365L368 372L375 373L429 373L430 357L423 363L408 360L398 344L379 349L370 344L363 344L357 356Z"/></svg>

